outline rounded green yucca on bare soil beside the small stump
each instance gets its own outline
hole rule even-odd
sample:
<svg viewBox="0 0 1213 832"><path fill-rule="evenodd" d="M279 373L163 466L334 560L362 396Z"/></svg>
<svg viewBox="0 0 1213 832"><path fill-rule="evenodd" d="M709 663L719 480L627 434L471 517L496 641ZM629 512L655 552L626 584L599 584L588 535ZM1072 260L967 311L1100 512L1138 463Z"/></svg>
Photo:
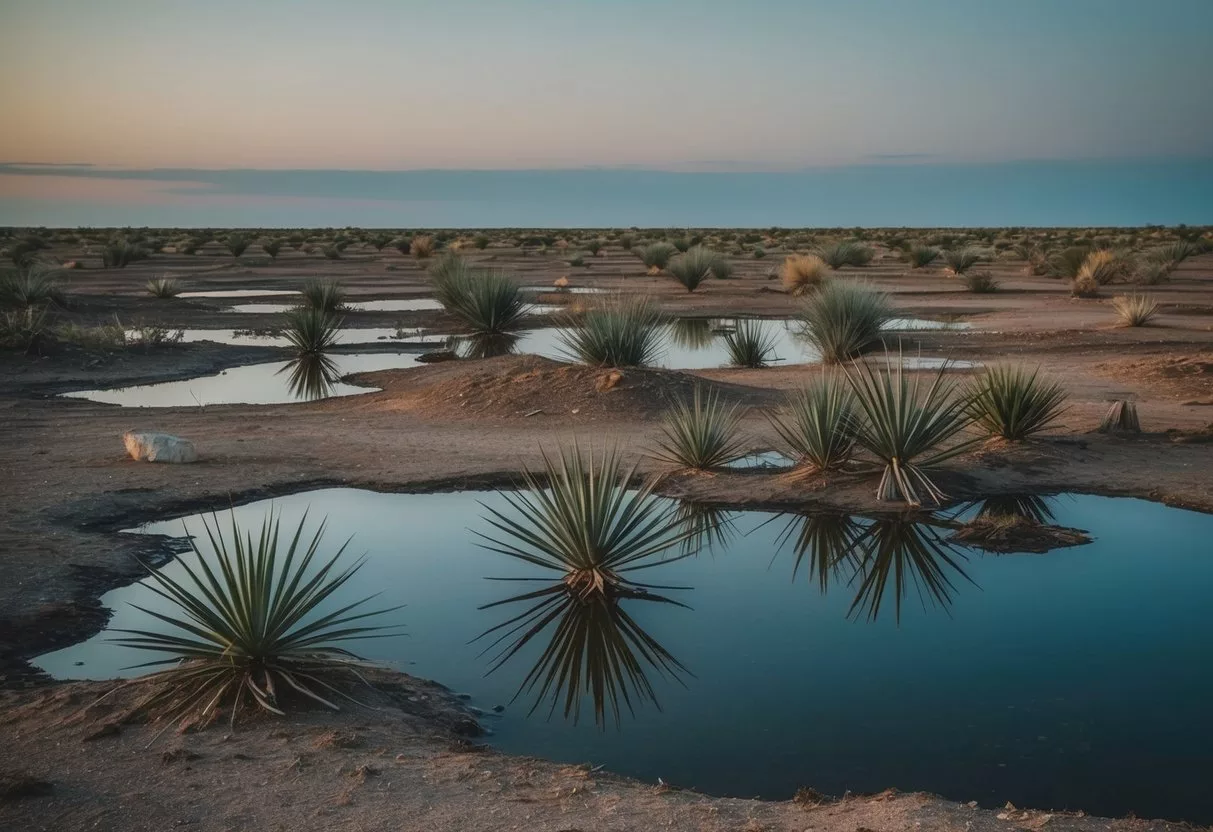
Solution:
<svg viewBox="0 0 1213 832"><path fill-rule="evenodd" d="M966 410L991 437L1019 440L1040 433L1065 412L1066 393L1040 369L992 366L964 391Z"/></svg>

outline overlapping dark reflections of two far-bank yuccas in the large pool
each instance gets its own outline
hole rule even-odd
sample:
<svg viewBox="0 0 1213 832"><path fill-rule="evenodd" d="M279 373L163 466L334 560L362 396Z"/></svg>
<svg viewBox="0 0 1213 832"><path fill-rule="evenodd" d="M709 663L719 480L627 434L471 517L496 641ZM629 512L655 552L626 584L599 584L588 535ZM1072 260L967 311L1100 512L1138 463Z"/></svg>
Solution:
<svg viewBox="0 0 1213 832"><path fill-rule="evenodd" d="M964 551L945 534L952 523L932 514L892 514L856 518L836 513L793 514L779 538L779 547L791 545L796 562L793 577L802 566L821 592L842 583L855 595L849 617L876 621L892 597L894 620L901 620L901 604L911 594L923 609L946 610L958 581L969 579Z"/></svg>

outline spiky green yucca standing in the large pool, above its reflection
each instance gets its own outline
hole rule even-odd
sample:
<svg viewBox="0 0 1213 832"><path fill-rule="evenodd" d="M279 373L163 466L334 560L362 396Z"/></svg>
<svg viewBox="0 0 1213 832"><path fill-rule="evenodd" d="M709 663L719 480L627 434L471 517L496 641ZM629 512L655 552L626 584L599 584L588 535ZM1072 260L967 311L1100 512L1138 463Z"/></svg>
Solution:
<svg viewBox="0 0 1213 832"><path fill-rule="evenodd" d="M508 511L486 507L495 531L477 535L484 548L559 574L579 598L642 588L632 572L680 557L677 503L654 494L655 479L631 489L636 466L625 469L616 450L586 457L576 444L545 452L543 474L524 471L523 490L501 492Z"/></svg>

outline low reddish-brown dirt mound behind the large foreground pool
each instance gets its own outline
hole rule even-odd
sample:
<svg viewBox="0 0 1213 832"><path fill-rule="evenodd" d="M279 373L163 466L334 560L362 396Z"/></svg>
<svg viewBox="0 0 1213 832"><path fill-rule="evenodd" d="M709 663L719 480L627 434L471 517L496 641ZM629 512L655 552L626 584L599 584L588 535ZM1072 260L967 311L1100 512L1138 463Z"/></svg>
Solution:
<svg viewBox="0 0 1213 832"><path fill-rule="evenodd" d="M714 388L728 400L757 404L762 391L699 378L676 370L590 367L536 355L448 361L381 380L383 393L368 408L408 409L435 418L528 418L531 416L660 415L689 399L696 386Z"/></svg>

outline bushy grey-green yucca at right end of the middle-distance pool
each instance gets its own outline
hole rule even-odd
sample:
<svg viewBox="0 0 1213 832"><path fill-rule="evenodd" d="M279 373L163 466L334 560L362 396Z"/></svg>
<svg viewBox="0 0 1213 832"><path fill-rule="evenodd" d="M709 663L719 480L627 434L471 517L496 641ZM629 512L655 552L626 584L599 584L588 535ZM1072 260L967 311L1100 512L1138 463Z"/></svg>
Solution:
<svg viewBox="0 0 1213 832"><path fill-rule="evenodd" d="M893 317L888 296L864 284L832 280L804 304L804 337L826 364L845 361L881 340Z"/></svg>

